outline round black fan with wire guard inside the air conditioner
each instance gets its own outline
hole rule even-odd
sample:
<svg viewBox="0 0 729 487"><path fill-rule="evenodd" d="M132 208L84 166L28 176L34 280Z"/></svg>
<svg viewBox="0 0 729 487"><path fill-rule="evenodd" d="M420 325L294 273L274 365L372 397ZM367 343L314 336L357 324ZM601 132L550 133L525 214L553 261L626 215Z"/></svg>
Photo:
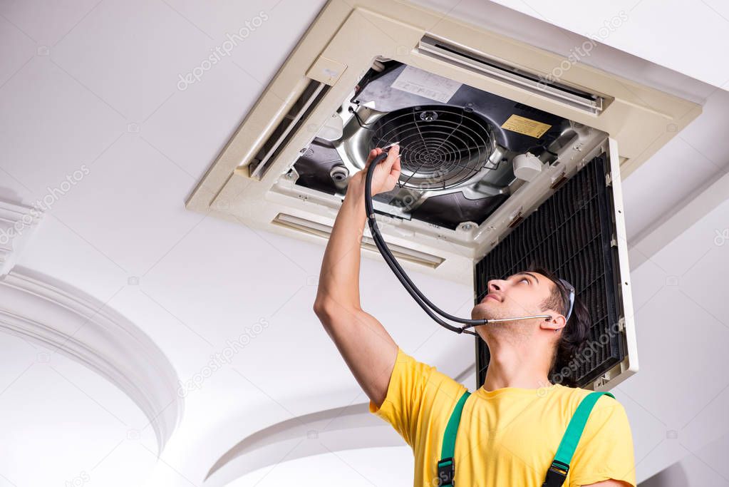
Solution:
<svg viewBox="0 0 729 487"><path fill-rule="evenodd" d="M399 141L399 184L445 190L464 184L486 168L496 141L478 114L458 106L411 106L373 124L370 150Z"/></svg>

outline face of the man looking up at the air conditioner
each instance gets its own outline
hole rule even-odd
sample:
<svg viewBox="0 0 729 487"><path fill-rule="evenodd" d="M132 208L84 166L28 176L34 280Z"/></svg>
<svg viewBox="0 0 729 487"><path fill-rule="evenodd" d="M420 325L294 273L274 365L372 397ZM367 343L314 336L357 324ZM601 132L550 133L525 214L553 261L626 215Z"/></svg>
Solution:
<svg viewBox="0 0 729 487"><path fill-rule="evenodd" d="M474 306L471 311L472 319L497 319L518 316L531 316L538 314L552 314L553 310L542 310L542 303L550 297L555 284L546 276L535 272L515 273L506 279L491 279L488 281L488 295ZM518 320L503 322L505 326L518 323L528 323L531 320Z"/></svg>

